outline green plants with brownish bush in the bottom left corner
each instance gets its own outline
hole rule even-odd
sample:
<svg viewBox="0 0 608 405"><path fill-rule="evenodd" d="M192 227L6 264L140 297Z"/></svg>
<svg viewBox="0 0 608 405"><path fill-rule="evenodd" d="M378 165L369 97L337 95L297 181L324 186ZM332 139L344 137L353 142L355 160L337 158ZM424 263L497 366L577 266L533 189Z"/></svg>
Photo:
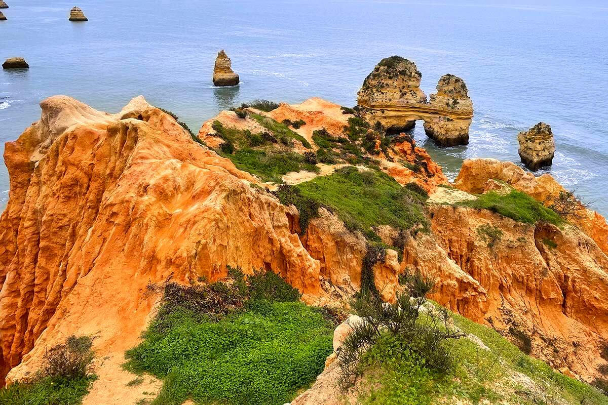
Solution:
<svg viewBox="0 0 608 405"><path fill-rule="evenodd" d="M70 336L44 355L43 367L33 378L0 389L2 405L76 405L97 376L87 368L93 359L91 338Z"/></svg>

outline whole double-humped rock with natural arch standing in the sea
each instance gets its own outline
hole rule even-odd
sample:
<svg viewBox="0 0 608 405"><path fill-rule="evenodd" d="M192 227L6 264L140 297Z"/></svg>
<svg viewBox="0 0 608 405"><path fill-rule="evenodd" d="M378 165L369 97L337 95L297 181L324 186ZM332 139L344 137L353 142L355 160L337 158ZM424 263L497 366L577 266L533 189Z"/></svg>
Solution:
<svg viewBox="0 0 608 405"><path fill-rule="evenodd" d="M416 65L400 56L385 58L365 78L358 93L362 115L371 124L379 122L387 132L407 131L416 120L440 146L466 145L473 117L465 82L444 75L437 94L427 102L420 89L422 74Z"/></svg>

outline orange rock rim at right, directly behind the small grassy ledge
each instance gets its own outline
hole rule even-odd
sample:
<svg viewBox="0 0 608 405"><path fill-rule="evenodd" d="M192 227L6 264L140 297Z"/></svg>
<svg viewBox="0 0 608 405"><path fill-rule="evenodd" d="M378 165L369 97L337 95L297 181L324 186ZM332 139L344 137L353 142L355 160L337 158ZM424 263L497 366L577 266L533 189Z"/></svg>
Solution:
<svg viewBox="0 0 608 405"><path fill-rule="evenodd" d="M533 174L512 162L481 158L467 159L463 162L454 186L463 191L481 194L492 187L490 182L492 179L505 182L547 206L550 206L559 197L560 192L567 191L550 174L534 177ZM608 254L608 224L603 216L579 205L579 208L567 219L591 237L598 247Z"/></svg>

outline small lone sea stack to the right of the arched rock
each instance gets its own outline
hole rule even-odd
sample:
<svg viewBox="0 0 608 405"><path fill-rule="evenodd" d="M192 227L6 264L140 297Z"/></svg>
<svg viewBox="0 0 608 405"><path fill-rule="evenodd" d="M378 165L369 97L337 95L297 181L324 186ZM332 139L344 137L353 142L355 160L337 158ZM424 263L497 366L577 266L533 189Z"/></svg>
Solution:
<svg viewBox="0 0 608 405"><path fill-rule="evenodd" d="M529 131L519 132L519 157L522 163L530 170L537 170L543 166L551 166L555 154L555 140L551 127L539 122Z"/></svg>

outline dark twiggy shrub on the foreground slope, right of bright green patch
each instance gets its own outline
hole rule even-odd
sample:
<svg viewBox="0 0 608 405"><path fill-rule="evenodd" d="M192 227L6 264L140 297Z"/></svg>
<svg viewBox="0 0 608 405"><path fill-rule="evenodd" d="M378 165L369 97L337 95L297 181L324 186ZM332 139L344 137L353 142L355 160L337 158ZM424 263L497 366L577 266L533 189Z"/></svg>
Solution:
<svg viewBox="0 0 608 405"><path fill-rule="evenodd" d="M412 277L420 277L420 273ZM412 284L430 287L427 292L434 287L434 284L427 285L427 280L412 281ZM424 290L417 293L424 293ZM362 367L371 366L369 362L361 362L361 359L370 350L374 353L373 347L379 342L385 342L384 339L390 339L398 345L399 350L396 352L411 352L416 358L423 359L422 364L427 370L440 374L451 370L452 357L446 341L464 335L449 325L450 315L443 307L429 311L424 315L424 320L421 320L421 307L425 303L426 298L413 297L413 291L398 293L394 304L382 302L378 296L366 293L353 299L351 308L364 322L351 325L353 332L347 336L339 350L340 386L351 386L361 374ZM385 352L385 359L394 354L392 350Z"/></svg>

